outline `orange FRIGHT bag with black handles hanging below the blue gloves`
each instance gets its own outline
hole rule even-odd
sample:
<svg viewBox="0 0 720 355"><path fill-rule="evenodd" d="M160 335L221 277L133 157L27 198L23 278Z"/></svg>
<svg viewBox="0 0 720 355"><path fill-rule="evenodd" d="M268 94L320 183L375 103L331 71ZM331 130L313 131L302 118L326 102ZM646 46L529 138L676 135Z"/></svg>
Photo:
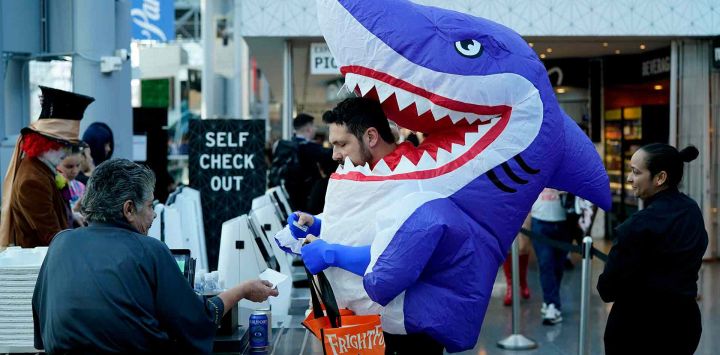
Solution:
<svg viewBox="0 0 720 355"><path fill-rule="evenodd" d="M306 269L307 271L307 269ZM302 322L323 343L325 355L384 355L385 338L377 314L358 316L338 309L330 282L322 272L311 280L313 311Z"/></svg>

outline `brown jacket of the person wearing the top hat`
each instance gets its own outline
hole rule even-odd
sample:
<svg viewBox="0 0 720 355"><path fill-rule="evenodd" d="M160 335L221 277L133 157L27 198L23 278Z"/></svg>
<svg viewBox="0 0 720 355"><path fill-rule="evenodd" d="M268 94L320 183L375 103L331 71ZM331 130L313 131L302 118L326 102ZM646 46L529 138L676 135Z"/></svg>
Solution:
<svg viewBox="0 0 720 355"><path fill-rule="evenodd" d="M55 173L36 158L20 162L10 195L10 243L23 248L47 246L68 228L68 216Z"/></svg>

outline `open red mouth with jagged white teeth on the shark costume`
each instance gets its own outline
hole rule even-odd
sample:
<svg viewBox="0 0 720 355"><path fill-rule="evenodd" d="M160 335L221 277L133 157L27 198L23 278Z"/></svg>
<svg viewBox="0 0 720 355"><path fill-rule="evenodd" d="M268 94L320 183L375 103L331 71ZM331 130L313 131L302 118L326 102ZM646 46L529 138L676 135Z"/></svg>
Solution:
<svg viewBox="0 0 720 355"><path fill-rule="evenodd" d="M510 120L510 106L457 101L361 66L340 70L348 89L379 101L399 126L429 133L429 137L417 148L397 149L373 167L354 166L348 159L333 179L413 180L447 174L481 154Z"/></svg>

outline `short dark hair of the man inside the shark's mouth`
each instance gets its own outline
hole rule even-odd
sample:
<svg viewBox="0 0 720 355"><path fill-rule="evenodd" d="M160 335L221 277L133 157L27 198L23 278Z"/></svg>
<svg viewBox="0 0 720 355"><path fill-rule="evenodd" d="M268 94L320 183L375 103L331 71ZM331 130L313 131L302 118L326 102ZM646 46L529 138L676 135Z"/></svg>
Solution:
<svg viewBox="0 0 720 355"><path fill-rule="evenodd" d="M395 143L390 124L380 103L364 97L351 97L343 100L332 111L323 114L323 122L344 125L358 140L368 128L377 129L380 137L387 143Z"/></svg>

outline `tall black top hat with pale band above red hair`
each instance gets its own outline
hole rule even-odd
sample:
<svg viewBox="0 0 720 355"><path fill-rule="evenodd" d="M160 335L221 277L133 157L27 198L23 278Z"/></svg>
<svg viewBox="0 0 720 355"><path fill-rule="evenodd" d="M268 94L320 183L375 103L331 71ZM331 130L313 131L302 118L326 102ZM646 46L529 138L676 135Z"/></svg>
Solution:
<svg viewBox="0 0 720 355"><path fill-rule="evenodd" d="M20 132L22 134L35 132L65 145L80 144L80 120L85 109L95 99L46 86L40 86L40 90L42 90L40 117Z"/></svg>

